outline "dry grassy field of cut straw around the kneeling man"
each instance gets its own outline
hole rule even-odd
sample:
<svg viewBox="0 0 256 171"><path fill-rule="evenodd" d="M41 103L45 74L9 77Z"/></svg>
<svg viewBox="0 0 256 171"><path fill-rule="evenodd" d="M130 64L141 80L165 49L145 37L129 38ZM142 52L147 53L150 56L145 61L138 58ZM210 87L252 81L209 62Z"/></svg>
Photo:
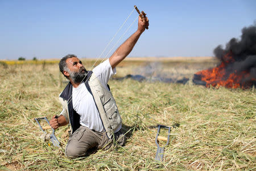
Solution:
<svg viewBox="0 0 256 171"><path fill-rule="evenodd" d="M90 69L94 60L83 63ZM67 80L57 63L0 62L0 170L255 170L254 87L205 88L191 81L196 71L216 64L213 58L125 59L115 78L141 74L189 81L110 80L126 146L72 160L64 155L68 126L56 130L62 144L57 148L40 138L33 119L61 112L58 96ZM171 130L162 163L154 160L157 124L179 125Z"/></svg>

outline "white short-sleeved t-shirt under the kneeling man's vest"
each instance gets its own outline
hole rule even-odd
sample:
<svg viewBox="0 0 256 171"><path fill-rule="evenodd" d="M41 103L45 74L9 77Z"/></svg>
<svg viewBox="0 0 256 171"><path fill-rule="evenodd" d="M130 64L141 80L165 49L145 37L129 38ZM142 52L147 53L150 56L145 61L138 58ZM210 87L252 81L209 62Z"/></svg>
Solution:
<svg viewBox="0 0 256 171"><path fill-rule="evenodd" d="M92 71L100 80L101 84L108 89L107 83L109 82L110 77L116 72L115 68L112 69L109 59L96 66ZM86 126L89 129L98 132L104 131L100 113L98 113L93 96L89 93L85 83L81 83L77 88L73 87L72 102L73 109L80 116L80 124L82 126ZM121 127L117 131L120 129Z"/></svg>

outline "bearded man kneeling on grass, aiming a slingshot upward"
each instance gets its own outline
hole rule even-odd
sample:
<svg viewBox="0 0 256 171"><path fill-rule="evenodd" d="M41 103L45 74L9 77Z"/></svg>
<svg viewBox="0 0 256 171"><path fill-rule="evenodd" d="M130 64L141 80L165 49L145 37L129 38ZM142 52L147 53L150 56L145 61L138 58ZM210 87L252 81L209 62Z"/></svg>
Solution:
<svg viewBox="0 0 256 171"><path fill-rule="evenodd" d="M94 147L108 149L114 140L121 146L125 144L121 117L107 84L115 67L131 52L148 25L146 16L139 18L137 31L92 71L86 71L76 55L60 60L60 71L70 82L60 94L63 111L49 122L53 129L71 124L72 135L65 149L68 157L86 156Z"/></svg>

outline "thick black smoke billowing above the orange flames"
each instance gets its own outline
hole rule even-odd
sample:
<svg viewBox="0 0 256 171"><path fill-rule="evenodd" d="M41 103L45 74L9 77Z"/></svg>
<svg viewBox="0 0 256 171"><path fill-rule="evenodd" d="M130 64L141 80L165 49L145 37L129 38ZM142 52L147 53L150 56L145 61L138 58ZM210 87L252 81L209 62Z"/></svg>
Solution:
<svg viewBox="0 0 256 171"><path fill-rule="evenodd" d="M231 73L249 72L249 78L243 80L247 82L256 79L256 22L250 27L242 29L241 39L232 38L225 49L221 45L213 50L214 55L226 64L226 71ZM225 55L230 54L233 61L229 61ZM228 63L230 62L230 63Z"/></svg>

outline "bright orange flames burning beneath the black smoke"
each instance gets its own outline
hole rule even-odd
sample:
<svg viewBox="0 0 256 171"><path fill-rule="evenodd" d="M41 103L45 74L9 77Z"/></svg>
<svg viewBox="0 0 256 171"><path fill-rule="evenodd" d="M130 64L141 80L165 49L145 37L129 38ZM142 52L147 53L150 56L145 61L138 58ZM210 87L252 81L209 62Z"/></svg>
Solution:
<svg viewBox="0 0 256 171"><path fill-rule="evenodd" d="M201 84L204 83L206 87L213 86L216 88L221 86L227 88L248 88L253 86L253 82L256 79L250 78L250 72L237 70L230 72L227 70L227 67L235 62L231 52L225 54L221 61L221 64L217 67L196 72L193 82L197 84L199 81Z"/></svg>

